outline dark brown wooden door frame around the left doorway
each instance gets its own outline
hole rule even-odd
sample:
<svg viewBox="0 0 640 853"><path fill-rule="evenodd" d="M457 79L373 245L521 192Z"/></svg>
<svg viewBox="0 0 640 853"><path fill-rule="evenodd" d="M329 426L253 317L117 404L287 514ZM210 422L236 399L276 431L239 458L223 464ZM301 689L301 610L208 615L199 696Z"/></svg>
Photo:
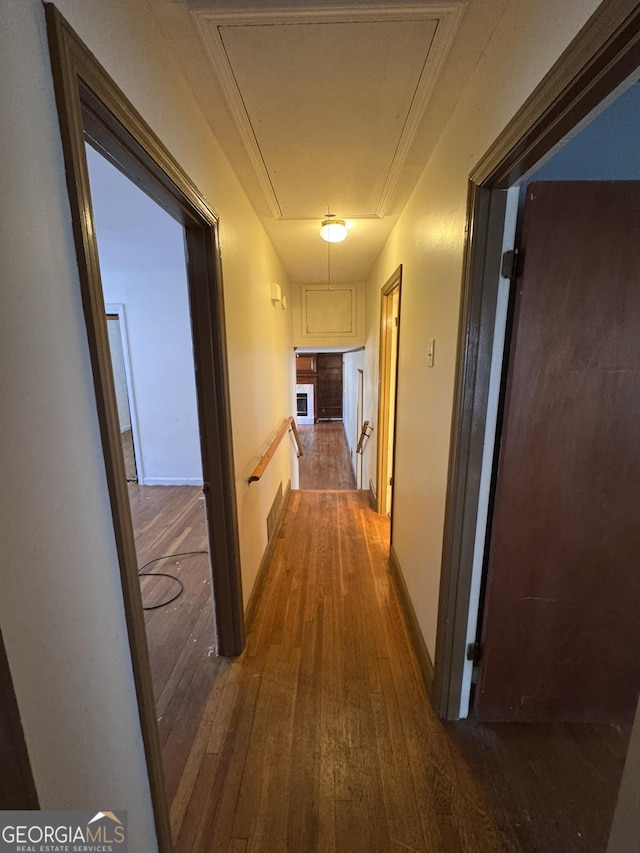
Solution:
<svg viewBox="0 0 640 853"><path fill-rule="evenodd" d="M185 229L203 491L207 508L209 553L211 564L215 567L212 574L215 642L218 654L231 656L239 654L244 647L244 608L218 217L52 3L45 3L45 13L96 408L156 834L161 853L169 853L172 850L169 808L109 358L85 141Z"/></svg>

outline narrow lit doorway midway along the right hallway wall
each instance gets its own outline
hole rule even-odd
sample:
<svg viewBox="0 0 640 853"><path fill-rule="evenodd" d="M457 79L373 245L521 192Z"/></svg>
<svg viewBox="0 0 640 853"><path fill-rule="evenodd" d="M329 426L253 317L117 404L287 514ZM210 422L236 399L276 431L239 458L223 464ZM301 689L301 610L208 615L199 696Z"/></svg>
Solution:
<svg viewBox="0 0 640 853"><path fill-rule="evenodd" d="M380 390L378 403L377 511L393 518L393 465L398 382L398 342L402 267L382 288L380 310Z"/></svg>

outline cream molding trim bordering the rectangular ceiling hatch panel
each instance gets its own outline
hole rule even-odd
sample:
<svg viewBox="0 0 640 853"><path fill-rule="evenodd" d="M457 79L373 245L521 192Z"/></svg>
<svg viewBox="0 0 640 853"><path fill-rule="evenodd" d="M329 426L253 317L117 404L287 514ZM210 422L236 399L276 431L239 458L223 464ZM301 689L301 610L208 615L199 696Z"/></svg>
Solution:
<svg viewBox="0 0 640 853"><path fill-rule="evenodd" d="M362 6L348 8L325 6L314 9L244 9L212 10L206 0L190 0L188 3L196 29L202 39L207 55L220 80L227 99L231 115L236 123L249 160L267 201L274 219L284 219L280 202L271 181L269 171L260 150L251 119L245 107L242 93L225 50L221 36L222 27L264 26L284 24L321 24L321 23L371 23L391 21L436 21L436 31L426 53L418 84L400 134L393 159L387 172L375 211L353 216L351 219L383 219L390 212L393 195L415 140L424 111L429 103L433 88L438 79L458 25L466 7L465 0L445 4L413 3L398 5L388 3L383 6ZM345 214L346 215L346 214ZM288 218L288 217L287 217Z"/></svg>

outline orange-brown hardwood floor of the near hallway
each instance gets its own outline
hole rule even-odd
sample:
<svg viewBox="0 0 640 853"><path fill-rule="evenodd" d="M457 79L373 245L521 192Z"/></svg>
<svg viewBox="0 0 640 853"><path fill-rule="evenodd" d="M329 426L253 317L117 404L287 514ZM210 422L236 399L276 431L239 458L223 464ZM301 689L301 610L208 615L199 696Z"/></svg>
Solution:
<svg viewBox="0 0 640 853"><path fill-rule="evenodd" d="M510 851L431 712L363 492L294 492L172 807L178 853Z"/></svg>

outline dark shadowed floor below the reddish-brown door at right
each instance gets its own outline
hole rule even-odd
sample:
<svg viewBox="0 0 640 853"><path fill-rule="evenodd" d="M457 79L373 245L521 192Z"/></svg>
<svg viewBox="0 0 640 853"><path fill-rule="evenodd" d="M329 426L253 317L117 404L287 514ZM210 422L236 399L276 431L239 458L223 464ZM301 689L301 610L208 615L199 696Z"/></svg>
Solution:
<svg viewBox="0 0 640 853"><path fill-rule="evenodd" d="M445 730L519 849L604 853L629 726L464 720Z"/></svg>

